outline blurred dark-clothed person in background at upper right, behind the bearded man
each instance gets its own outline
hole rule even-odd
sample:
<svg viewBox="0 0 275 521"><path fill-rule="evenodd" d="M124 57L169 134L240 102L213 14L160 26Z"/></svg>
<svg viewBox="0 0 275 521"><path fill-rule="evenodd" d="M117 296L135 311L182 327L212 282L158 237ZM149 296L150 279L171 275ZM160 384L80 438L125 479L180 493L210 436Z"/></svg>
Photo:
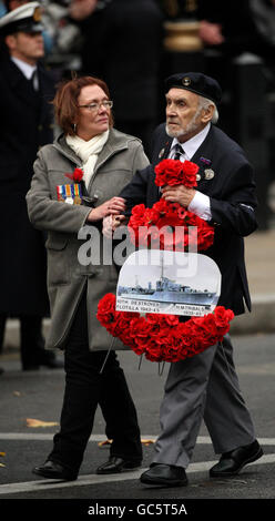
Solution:
<svg viewBox="0 0 275 521"><path fill-rule="evenodd" d="M257 183L258 229L272 225L268 205L275 160L275 0L201 0L205 70L223 86L222 127L246 150ZM252 88L253 85L253 88Z"/></svg>

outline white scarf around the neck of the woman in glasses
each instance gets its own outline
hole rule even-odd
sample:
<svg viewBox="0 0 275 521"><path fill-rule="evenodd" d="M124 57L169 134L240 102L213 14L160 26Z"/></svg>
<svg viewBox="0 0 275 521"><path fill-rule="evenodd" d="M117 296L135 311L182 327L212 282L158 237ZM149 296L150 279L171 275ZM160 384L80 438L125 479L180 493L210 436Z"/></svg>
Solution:
<svg viewBox="0 0 275 521"><path fill-rule="evenodd" d="M109 137L109 130L103 134L95 135L90 141L84 141L78 135L67 135L67 144L83 161L84 183L88 188L98 161L98 155L102 151Z"/></svg>

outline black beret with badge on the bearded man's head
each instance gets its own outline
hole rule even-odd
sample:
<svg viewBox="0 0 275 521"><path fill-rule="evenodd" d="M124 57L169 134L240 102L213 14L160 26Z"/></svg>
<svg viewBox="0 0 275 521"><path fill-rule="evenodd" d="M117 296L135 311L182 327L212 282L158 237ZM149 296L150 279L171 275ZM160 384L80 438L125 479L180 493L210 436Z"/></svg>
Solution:
<svg viewBox="0 0 275 521"><path fill-rule="evenodd" d="M165 92L170 89L184 89L194 92L203 98L220 103L222 99L222 89L213 78L202 74L202 72L180 72L165 80Z"/></svg>

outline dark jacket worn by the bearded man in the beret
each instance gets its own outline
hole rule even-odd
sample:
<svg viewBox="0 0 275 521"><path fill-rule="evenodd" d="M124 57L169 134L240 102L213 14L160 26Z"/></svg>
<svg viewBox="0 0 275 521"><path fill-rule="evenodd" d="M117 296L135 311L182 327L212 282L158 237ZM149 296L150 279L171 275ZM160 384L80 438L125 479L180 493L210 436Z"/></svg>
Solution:
<svg viewBox="0 0 275 521"><path fill-rule="evenodd" d="M159 201L154 184L154 166L169 154L172 139L160 125L154 136L152 166L138 172L121 192L128 201L128 211L144 203L147 207ZM206 165L204 160L208 160ZM192 157L200 166L202 180L197 190L210 196L212 222L215 226L214 244L205 255L212 257L222 273L218 305L244 313L244 300L251 309L251 298L244 263L244 239L257 227L254 208L257 204L253 168L243 150L220 129L212 126L206 139ZM212 168L212 180L205 180L204 170Z"/></svg>

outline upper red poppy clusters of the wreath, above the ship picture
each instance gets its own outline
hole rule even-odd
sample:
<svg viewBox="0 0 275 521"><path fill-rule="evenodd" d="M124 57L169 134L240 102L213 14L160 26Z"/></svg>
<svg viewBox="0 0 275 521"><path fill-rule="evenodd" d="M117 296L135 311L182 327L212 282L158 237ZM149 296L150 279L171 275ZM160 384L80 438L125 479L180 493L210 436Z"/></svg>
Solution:
<svg viewBox="0 0 275 521"><path fill-rule="evenodd" d="M198 166L191 161L163 160L155 167L156 186L196 186ZM214 242L214 227L179 203L161 198L152 208L133 207L129 221L130 239L136 247L186 252L192 245L207 249ZM180 233L177 233L177 231ZM183 232L184 231L184 232Z"/></svg>

